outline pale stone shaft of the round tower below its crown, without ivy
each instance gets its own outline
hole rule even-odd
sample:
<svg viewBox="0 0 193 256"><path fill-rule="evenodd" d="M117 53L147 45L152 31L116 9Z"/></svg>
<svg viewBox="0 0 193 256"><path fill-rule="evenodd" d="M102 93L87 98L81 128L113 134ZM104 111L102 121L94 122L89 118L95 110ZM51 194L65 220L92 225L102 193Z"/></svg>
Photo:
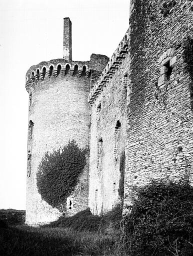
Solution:
<svg viewBox="0 0 193 256"><path fill-rule="evenodd" d="M35 174L46 151L58 149L71 139L75 139L82 148L88 147L88 92L89 78L71 76L71 74L46 77L33 84L30 89L32 103L29 107L29 120L34 124L31 174L27 177L26 222L29 224L43 223L58 217L59 212L41 200L37 193ZM72 212L87 207L87 175L86 166L80 177L81 185L77 187L81 196L78 195L78 198L74 199L72 195L71 198ZM74 193L78 194L76 190ZM30 219L29 212L33 220ZM48 215L49 219L47 219Z"/></svg>

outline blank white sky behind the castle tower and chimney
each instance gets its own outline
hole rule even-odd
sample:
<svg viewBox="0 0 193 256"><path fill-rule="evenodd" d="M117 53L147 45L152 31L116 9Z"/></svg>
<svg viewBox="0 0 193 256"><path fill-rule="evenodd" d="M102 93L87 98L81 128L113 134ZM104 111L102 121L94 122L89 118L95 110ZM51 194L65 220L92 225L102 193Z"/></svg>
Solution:
<svg viewBox="0 0 193 256"><path fill-rule="evenodd" d="M27 69L62 58L63 18L72 59L110 57L128 28L129 0L0 0L0 208L25 209Z"/></svg>

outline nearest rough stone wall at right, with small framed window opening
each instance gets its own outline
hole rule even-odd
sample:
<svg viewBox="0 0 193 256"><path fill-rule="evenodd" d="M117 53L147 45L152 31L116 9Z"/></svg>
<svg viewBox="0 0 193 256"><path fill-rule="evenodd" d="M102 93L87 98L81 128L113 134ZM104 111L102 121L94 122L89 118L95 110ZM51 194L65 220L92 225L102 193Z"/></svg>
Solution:
<svg viewBox="0 0 193 256"><path fill-rule="evenodd" d="M192 172L191 80L183 60L192 17L191 1L131 2L124 204L134 185Z"/></svg>

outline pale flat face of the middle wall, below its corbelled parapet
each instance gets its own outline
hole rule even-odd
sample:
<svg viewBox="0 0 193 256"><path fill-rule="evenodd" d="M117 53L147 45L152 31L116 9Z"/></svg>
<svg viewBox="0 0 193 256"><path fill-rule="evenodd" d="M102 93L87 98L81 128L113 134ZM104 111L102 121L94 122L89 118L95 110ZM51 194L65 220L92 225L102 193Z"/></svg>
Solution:
<svg viewBox="0 0 193 256"><path fill-rule="evenodd" d="M103 88L91 107L89 207L95 214L106 212L120 201L120 152L125 149L126 138L126 88L124 86L126 63L123 62L112 79ZM100 111L97 106L101 104ZM118 145L115 126L120 122ZM98 138L102 138L100 166L97 166Z"/></svg>

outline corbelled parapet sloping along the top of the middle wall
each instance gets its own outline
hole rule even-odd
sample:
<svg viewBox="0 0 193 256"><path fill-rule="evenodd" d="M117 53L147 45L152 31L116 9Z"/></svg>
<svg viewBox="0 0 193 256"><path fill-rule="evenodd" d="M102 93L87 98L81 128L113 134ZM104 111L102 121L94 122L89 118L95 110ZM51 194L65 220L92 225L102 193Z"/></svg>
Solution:
<svg viewBox="0 0 193 256"><path fill-rule="evenodd" d="M93 88L91 89L88 96L88 102L90 104L94 102L95 98L103 90L103 87L105 87L108 84L109 80L112 78L115 71L121 65L122 60L125 58L127 52L128 52L128 30L124 34L122 40L119 42L118 47L113 52L110 60L108 61L104 70L102 71L101 76L99 77L97 82L94 84Z"/></svg>

